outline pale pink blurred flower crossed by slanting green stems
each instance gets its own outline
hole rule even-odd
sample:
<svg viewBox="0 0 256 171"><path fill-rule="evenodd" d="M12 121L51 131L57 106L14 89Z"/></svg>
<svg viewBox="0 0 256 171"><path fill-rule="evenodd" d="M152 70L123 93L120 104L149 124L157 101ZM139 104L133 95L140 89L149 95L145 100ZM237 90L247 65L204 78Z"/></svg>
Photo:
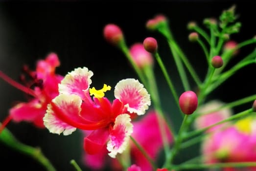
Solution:
<svg viewBox="0 0 256 171"><path fill-rule="evenodd" d="M198 113L200 114L200 116L198 116L194 122L194 127L196 129L202 129L202 128L206 128L208 126L211 126L217 122L220 122L224 119L229 118L232 114L233 111L230 108L227 109L221 109L215 112L211 112L211 113L207 113L210 112L211 110L214 110L218 107L221 107L222 105L224 105L224 103L220 102L220 101L210 101L207 104L203 105L202 107L200 107L198 109ZM201 115L202 114L202 115ZM210 132L219 128L224 128L226 126L229 126L229 123L223 123L217 126L214 126L212 128L209 128L206 132Z"/></svg>

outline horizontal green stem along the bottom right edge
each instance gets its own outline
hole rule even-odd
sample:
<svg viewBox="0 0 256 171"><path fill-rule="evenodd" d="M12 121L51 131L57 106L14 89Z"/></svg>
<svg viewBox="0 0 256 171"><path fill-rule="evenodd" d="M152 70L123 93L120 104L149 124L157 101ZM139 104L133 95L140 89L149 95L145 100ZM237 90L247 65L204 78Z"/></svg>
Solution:
<svg viewBox="0 0 256 171"><path fill-rule="evenodd" d="M217 168L244 168L255 167L256 162L235 162L235 163L213 163L213 164L184 164L178 166L178 170L191 170L191 169L217 169Z"/></svg>

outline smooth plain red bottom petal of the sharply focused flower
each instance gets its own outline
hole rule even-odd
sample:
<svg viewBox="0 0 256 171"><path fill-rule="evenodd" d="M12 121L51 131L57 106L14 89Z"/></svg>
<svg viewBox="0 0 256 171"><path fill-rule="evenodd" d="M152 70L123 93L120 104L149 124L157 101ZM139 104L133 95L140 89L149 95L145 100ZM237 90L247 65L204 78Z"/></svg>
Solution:
<svg viewBox="0 0 256 171"><path fill-rule="evenodd" d="M89 136L84 138L84 150L89 154L96 154L106 146L108 138L108 128L94 130Z"/></svg>

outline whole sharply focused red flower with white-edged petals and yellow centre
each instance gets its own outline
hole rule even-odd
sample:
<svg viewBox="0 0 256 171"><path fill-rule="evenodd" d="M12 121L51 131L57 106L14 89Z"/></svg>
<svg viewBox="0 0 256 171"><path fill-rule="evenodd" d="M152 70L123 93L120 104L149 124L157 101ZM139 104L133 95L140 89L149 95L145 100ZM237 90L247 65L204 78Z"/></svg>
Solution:
<svg viewBox="0 0 256 171"><path fill-rule="evenodd" d="M143 115L151 104L150 95L138 80L119 81L114 90L116 99L111 103L102 89L89 88L93 72L76 68L59 84L59 95L48 105L44 124L52 133L71 134L76 128L93 130L84 138L84 150L99 152L107 143L109 156L122 153L133 132L130 115ZM93 95L93 99L90 95Z"/></svg>

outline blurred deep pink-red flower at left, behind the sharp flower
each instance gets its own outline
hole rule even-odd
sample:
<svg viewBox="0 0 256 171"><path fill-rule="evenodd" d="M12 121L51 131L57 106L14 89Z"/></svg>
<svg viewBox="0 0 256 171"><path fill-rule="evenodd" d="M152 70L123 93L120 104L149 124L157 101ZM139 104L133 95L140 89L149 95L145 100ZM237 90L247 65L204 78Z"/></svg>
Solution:
<svg viewBox="0 0 256 171"><path fill-rule="evenodd" d="M24 71L32 79L26 81L25 76L22 75L25 86L0 72L0 77L6 82L32 95L28 102L20 102L12 107L7 120L12 119L16 122L27 121L33 123L38 128L45 128L43 117L47 110L47 104L58 95L58 84L63 79L62 76L55 74L55 68L59 65L60 62L57 55L50 53L45 60L37 62L35 71L30 71L25 66Z"/></svg>

